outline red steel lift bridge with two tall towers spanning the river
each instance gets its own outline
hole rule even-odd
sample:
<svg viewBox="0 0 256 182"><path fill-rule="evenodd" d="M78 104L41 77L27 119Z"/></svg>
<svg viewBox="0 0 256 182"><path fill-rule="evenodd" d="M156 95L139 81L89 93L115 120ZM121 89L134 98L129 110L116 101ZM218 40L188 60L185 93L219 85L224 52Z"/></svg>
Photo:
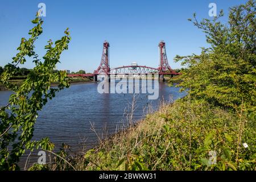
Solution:
<svg viewBox="0 0 256 182"><path fill-rule="evenodd" d="M101 63L99 67L92 74L69 74L68 77L93 77L94 81L97 81L98 75L147 75L147 74L159 74L159 78L164 80L164 75L180 75L176 73L168 63L166 55L166 43L161 41L159 43L160 61L158 68L151 68L147 66L137 65L132 63L131 65L122 66L118 68L110 69L109 61L109 42L103 43L103 52L101 57Z"/></svg>

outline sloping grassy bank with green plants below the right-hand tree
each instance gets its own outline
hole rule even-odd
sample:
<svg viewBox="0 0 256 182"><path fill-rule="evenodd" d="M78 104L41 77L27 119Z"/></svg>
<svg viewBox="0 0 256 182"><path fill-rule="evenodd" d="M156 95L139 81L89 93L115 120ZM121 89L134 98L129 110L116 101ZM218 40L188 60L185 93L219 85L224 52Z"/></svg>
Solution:
<svg viewBox="0 0 256 182"><path fill-rule="evenodd" d="M84 155L74 158L65 146L58 155L66 161L56 156L55 163L31 169L255 170L255 125L232 111L186 97L163 104L136 125L82 151Z"/></svg>

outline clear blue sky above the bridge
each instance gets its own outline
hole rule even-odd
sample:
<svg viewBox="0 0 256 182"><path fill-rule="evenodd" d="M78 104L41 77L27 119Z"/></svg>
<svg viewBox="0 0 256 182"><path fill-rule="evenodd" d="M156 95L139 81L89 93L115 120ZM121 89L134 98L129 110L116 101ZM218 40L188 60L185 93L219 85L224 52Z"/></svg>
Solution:
<svg viewBox="0 0 256 182"><path fill-rule="evenodd" d="M209 3L216 3L217 11L224 10L227 21L230 6L245 0L88 0L88 1L4 1L0 0L0 66L11 62L17 53L22 37L28 38L33 27L39 3L45 3L43 34L35 43L39 56L46 53L47 41L56 41L69 27L72 40L69 49L61 55L57 69L93 72L101 61L102 46L108 40L110 68L138 65L157 68L159 65L158 43L166 42L168 62L173 69L181 68L174 63L175 55L200 53L200 47L208 47L204 33L188 18L212 19L208 15ZM33 68L28 60L20 68Z"/></svg>

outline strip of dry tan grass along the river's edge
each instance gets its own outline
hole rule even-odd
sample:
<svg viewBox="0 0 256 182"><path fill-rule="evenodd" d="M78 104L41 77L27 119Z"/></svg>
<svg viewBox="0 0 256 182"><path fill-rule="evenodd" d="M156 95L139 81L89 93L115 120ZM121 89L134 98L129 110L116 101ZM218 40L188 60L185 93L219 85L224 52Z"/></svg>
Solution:
<svg viewBox="0 0 256 182"><path fill-rule="evenodd" d="M154 140L153 137L160 137L161 130L166 121L159 115L167 114L170 109L170 105L162 104L159 111L146 115L144 119L137 123L133 123L134 105L131 105L131 112L127 114L125 129L118 131L107 139L102 140L99 138L98 145L93 148L93 150L84 152L85 155L82 160L77 163L79 170L113 169L117 166L119 160L123 158L127 158L127 160L129 160L135 150L143 148L145 139ZM156 147L156 145L157 143L152 147ZM102 151L104 151L104 154L102 154ZM102 154L104 156L98 154ZM81 157L79 158L81 159ZM114 163L113 159L115 160ZM84 166L85 163L86 167ZM113 165L102 167L103 163L112 163Z"/></svg>

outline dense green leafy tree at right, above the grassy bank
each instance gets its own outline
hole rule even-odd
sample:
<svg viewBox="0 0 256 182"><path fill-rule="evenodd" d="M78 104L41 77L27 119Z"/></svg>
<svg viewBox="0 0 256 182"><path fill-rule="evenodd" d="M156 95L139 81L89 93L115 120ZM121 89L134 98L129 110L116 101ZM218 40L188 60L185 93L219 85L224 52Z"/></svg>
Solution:
<svg viewBox="0 0 256 182"><path fill-rule="evenodd" d="M255 1L230 8L227 24L219 21L223 15L201 22L194 15L193 23L205 32L210 47L201 55L176 56L188 68L179 86L189 89L191 97L255 114Z"/></svg>

